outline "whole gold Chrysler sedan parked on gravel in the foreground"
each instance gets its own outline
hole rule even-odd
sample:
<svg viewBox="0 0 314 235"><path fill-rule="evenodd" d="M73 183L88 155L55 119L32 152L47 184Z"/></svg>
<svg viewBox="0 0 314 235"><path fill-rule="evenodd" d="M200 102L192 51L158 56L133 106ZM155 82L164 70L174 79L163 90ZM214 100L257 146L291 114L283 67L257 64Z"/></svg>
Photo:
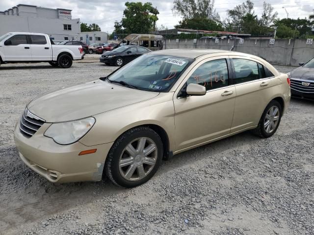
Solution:
<svg viewBox="0 0 314 235"><path fill-rule="evenodd" d="M272 136L290 101L287 74L223 50L160 50L107 77L35 98L14 136L51 182L135 187L162 159L246 130Z"/></svg>

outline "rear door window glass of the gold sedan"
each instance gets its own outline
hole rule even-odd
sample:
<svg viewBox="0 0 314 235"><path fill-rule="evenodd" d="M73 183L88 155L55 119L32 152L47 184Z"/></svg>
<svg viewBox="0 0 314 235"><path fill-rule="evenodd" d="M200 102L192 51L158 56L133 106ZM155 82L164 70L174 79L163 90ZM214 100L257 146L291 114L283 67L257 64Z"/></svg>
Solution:
<svg viewBox="0 0 314 235"><path fill-rule="evenodd" d="M260 79L257 62L246 59L232 59L232 61L235 66L235 84Z"/></svg>

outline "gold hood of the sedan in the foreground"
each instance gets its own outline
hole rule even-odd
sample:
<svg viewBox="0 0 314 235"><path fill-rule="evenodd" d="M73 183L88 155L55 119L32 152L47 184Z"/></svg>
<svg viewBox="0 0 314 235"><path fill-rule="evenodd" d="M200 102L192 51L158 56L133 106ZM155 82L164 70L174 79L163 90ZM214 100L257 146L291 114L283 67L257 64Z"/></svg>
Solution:
<svg viewBox="0 0 314 235"><path fill-rule="evenodd" d="M152 99L158 94L96 80L43 94L27 108L46 122L69 121Z"/></svg>

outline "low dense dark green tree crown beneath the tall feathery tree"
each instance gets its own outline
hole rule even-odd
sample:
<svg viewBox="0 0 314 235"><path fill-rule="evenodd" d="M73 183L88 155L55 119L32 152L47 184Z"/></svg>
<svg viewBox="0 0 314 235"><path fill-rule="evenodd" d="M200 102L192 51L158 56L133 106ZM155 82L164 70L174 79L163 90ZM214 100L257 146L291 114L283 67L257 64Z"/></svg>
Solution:
<svg viewBox="0 0 314 235"><path fill-rule="evenodd" d="M175 27L176 28L213 30L213 31L224 30L224 28L221 24L216 23L215 21L210 20L207 17L195 17L192 19L183 19Z"/></svg>

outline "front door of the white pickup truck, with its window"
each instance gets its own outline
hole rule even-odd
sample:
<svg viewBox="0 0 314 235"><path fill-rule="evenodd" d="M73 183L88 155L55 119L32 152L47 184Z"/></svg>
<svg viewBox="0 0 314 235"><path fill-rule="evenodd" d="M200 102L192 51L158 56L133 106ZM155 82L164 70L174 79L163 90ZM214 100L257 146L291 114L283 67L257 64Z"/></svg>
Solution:
<svg viewBox="0 0 314 235"><path fill-rule="evenodd" d="M5 40L3 45L4 61L31 61L31 50L27 35L16 34Z"/></svg>

